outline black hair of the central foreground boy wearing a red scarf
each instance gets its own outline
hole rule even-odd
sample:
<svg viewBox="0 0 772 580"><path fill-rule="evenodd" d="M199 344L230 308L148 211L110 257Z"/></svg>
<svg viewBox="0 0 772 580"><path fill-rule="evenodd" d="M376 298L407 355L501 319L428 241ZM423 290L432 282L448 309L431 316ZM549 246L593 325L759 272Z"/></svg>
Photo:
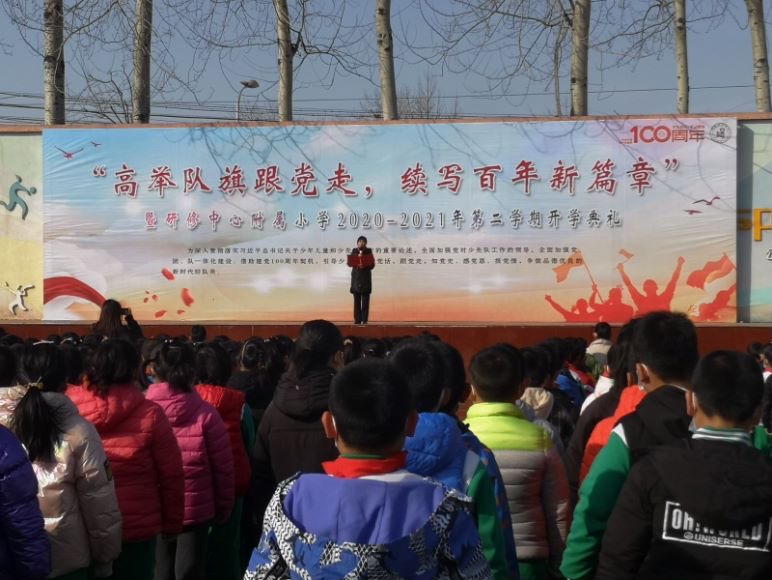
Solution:
<svg viewBox="0 0 772 580"><path fill-rule="evenodd" d="M400 441L413 411L405 376L383 359L359 359L330 385L330 413L347 445L378 453Z"/></svg>

